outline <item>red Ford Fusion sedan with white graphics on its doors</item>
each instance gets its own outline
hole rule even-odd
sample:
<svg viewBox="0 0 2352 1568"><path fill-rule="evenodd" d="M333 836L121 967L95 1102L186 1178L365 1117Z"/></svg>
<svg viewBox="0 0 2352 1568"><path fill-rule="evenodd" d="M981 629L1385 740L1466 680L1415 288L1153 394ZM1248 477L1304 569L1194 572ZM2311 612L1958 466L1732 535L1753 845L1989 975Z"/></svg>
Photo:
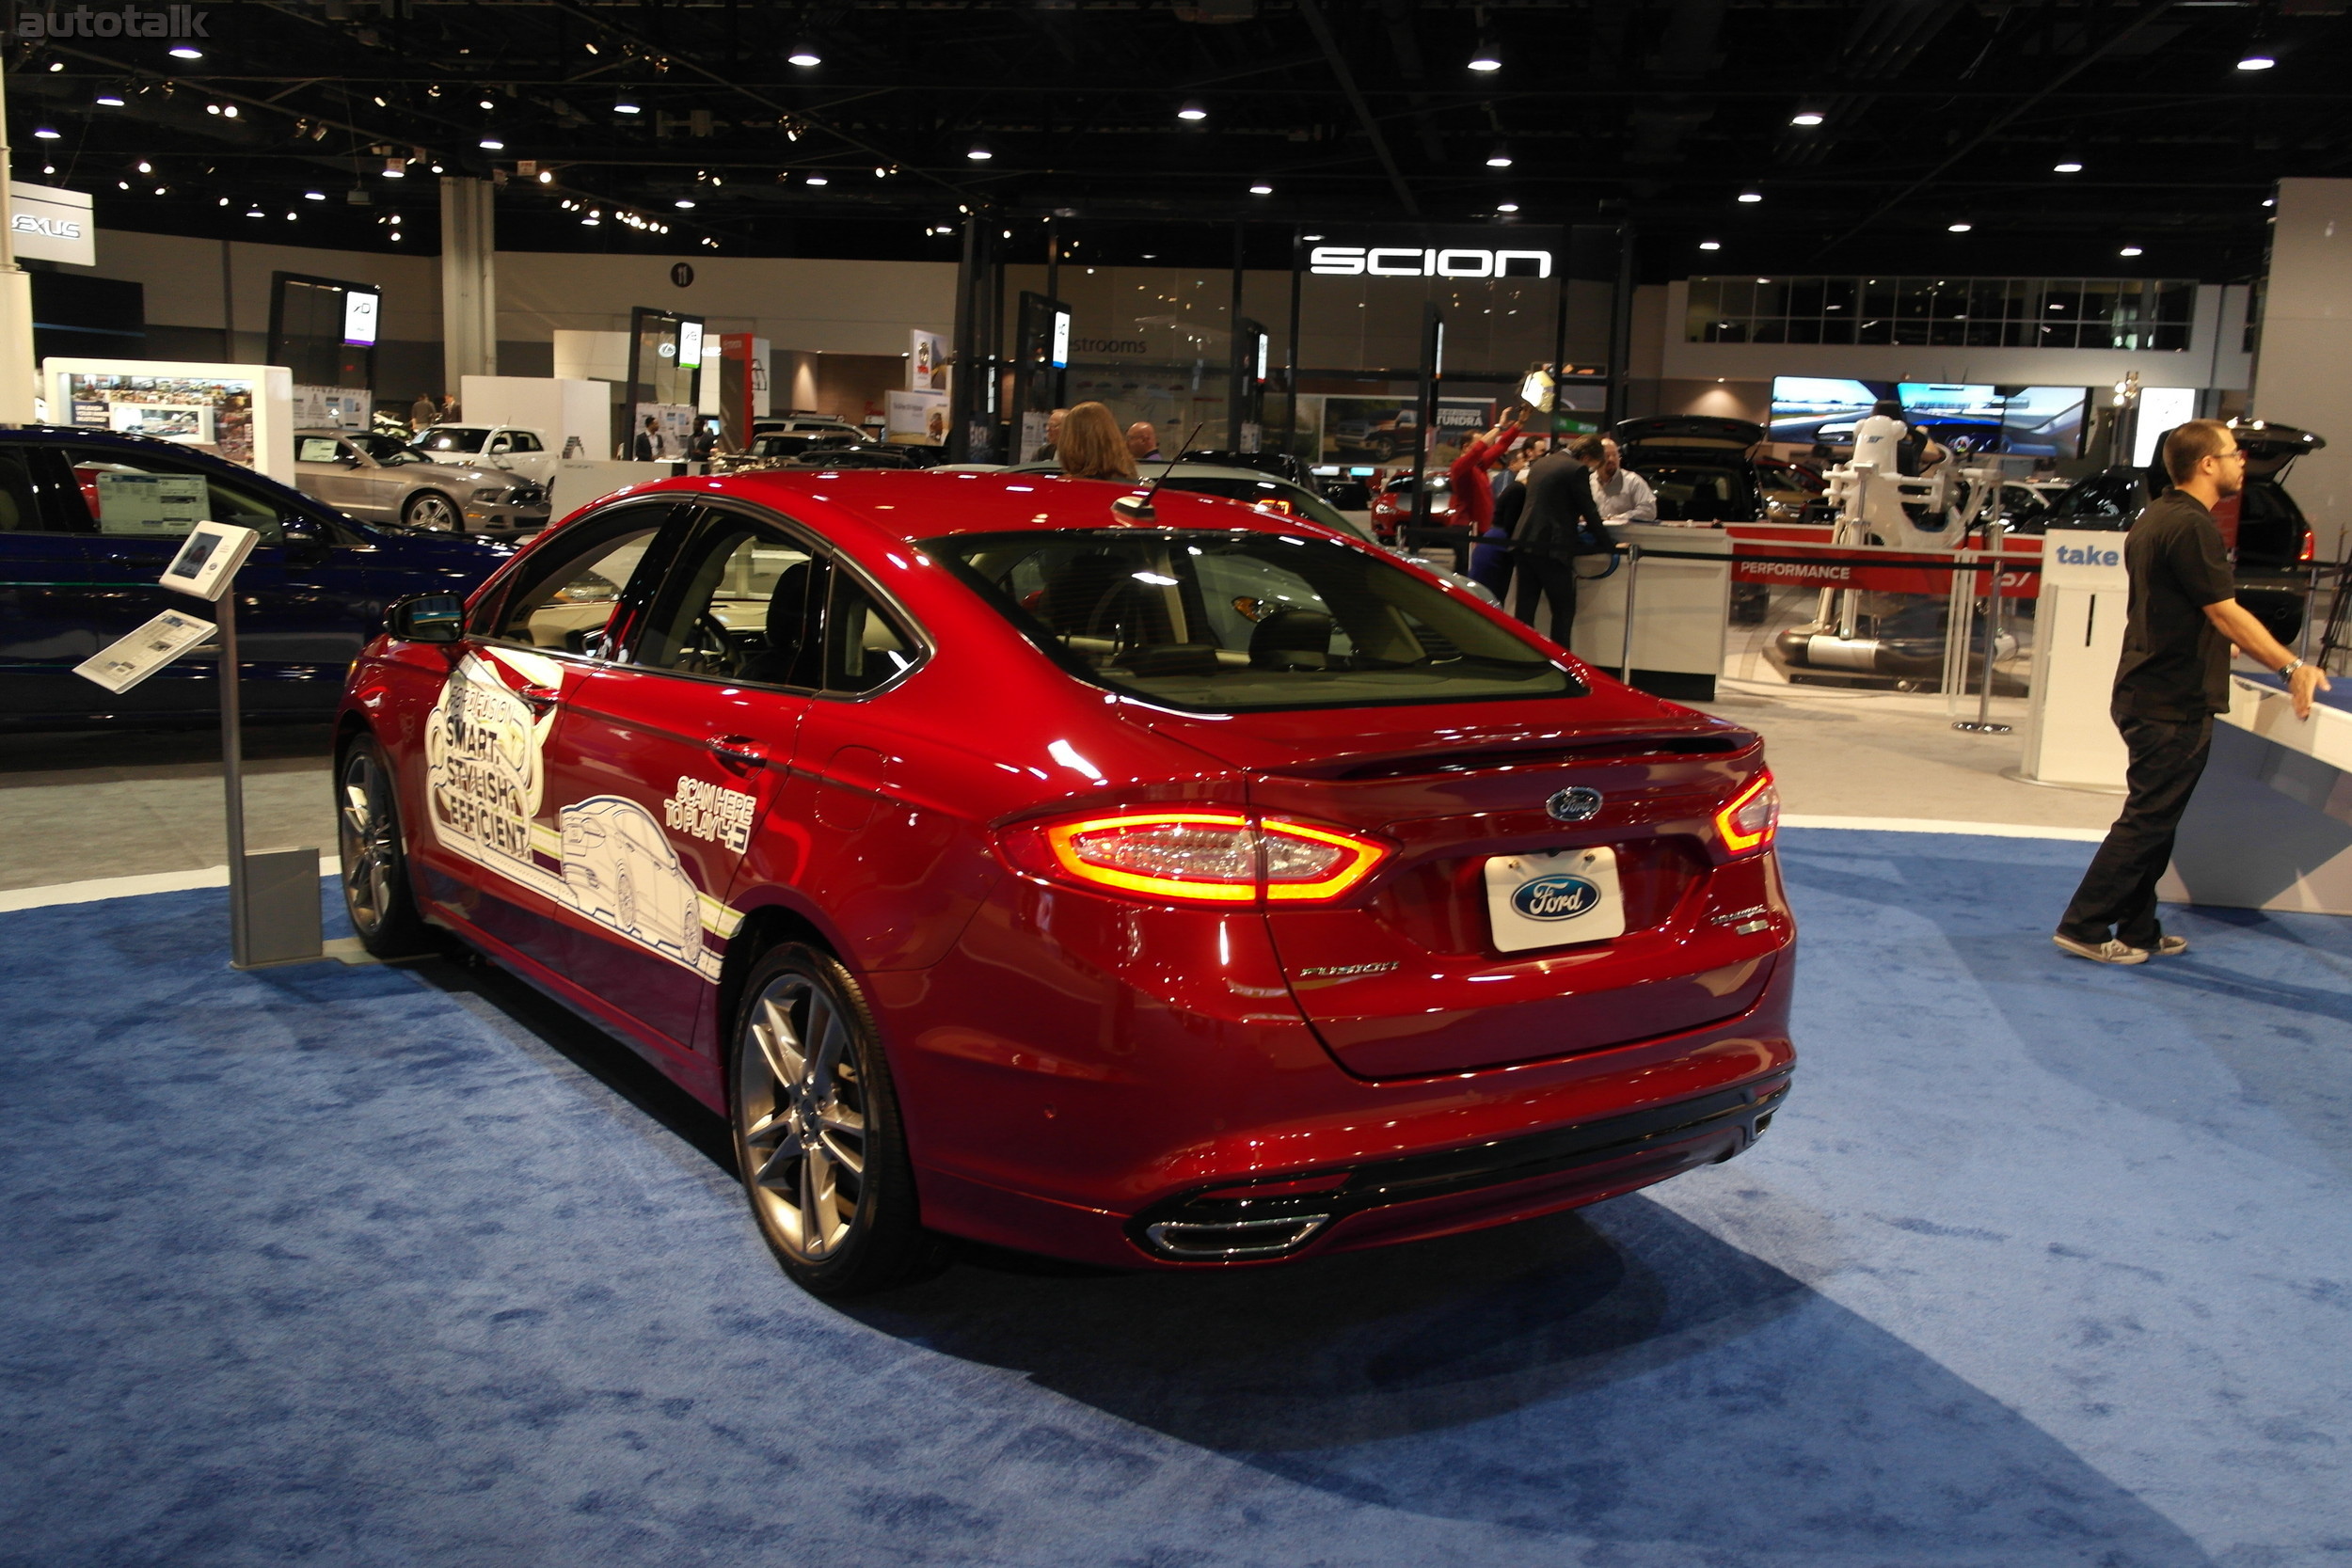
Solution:
<svg viewBox="0 0 2352 1568"><path fill-rule="evenodd" d="M621 491L395 607L336 785L365 943L633 1041L818 1293L927 1232L1232 1267L1592 1204L1795 1060L1755 733L1214 496Z"/></svg>

